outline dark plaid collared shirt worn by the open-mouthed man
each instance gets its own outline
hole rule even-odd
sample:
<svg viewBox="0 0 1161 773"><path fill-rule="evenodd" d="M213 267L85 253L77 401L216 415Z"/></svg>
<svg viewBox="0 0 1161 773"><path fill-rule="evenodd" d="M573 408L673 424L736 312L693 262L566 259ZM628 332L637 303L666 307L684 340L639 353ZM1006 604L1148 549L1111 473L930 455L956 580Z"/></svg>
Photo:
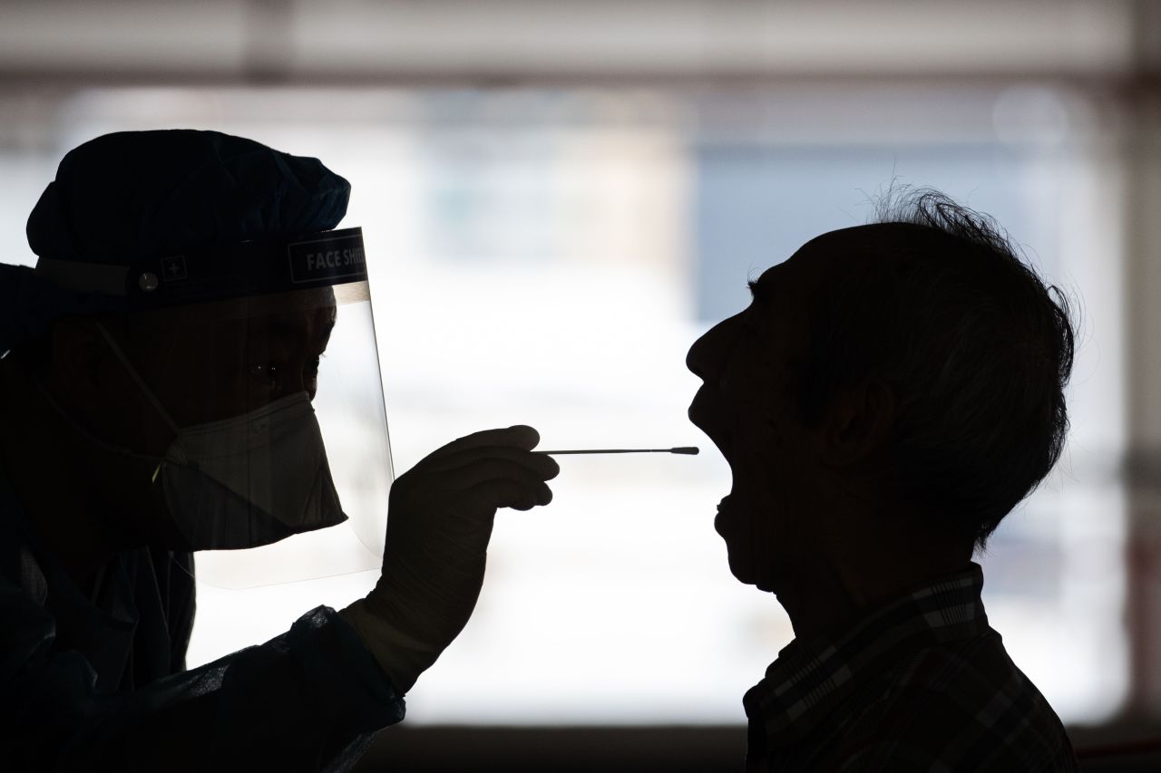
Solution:
<svg viewBox="0 0 1161 773"><path fill-rule="evenodd" d="M1008 657L979 564L795 640L742 702L755 771L1075 771L1052 707Z"/></svg>

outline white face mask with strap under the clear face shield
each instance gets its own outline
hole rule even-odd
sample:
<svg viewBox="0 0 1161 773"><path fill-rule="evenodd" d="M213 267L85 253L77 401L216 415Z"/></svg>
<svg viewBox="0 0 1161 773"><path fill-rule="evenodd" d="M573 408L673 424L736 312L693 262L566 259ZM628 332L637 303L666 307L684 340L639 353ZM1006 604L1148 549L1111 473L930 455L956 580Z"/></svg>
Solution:
<svg viewBox="0 0 1161 773"><path fill-rule="evenodd" d="M194 550L253 548L347 519L305 391L241 416L179 427L104 326L98 326L174 432L153 481Z"/></svg>

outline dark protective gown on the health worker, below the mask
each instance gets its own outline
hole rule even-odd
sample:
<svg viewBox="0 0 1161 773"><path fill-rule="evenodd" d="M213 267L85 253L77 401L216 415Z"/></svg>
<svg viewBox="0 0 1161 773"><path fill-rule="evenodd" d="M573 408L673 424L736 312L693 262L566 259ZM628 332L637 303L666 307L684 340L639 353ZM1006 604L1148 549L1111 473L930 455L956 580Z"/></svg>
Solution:
<svg viewBox="0 0 1161 773"><path fill-rule="evenodd" d="M347 771L403 718L403 698L330 607L186 671L192 571L190 554L124 551L87 598L0 470L0 767Z"/></svg>

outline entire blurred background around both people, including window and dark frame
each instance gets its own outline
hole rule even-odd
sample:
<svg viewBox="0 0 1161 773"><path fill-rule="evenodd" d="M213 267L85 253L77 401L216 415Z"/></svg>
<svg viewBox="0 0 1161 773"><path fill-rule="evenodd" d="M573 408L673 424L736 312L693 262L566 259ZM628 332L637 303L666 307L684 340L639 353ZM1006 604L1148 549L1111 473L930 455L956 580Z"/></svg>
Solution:
<svg viewBox="0 0 1161 773"><path fill-rule="evenodd" d="M563 457L360 770L738 770L793 636L729 575L690 344L892 183L994 215L1079 298L1073 431L978 558L1077 747L1161 735L1161 7L1147 1L0 3L0 250L98 135L217 129L351 180L395 469L481 428ZM325 367L325 363L324 363ZM320 416L325 429L325 416ZM332 465L342 438L327 436ZM203 586L190 665L374 572ZM1138 759L1140 761L1140 759ZM1131 770L1132 757L1093 770ZM521 767L522 766L522 767Z"/></svg>

